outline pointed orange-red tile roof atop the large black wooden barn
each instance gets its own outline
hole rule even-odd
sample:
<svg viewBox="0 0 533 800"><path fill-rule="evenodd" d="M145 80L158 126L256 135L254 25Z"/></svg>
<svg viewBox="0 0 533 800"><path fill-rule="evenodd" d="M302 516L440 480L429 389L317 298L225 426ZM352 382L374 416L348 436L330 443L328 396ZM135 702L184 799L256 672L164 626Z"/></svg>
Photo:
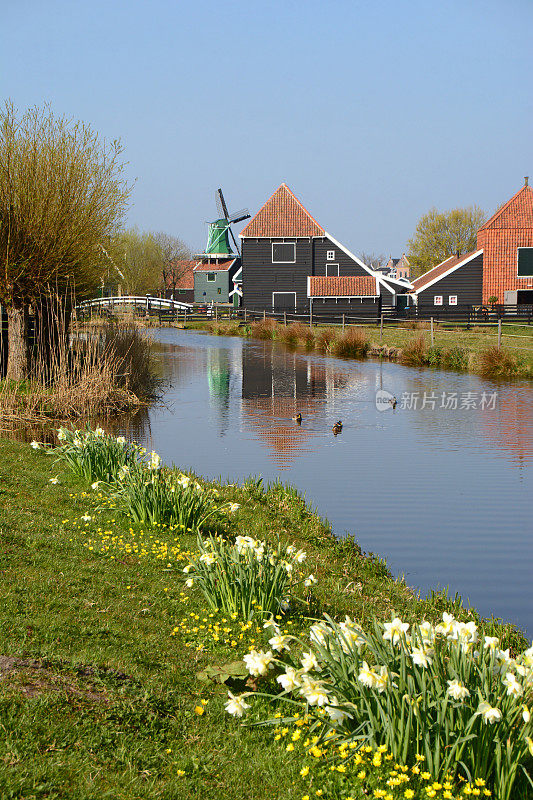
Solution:
<svg viewBox="0 0 533 800"><path fill-rule="evenodd" d="M260 211L241 231L241 236L271 238L283 236L324 236L325 230L313 219L286 183L276 189Z"/></svg>

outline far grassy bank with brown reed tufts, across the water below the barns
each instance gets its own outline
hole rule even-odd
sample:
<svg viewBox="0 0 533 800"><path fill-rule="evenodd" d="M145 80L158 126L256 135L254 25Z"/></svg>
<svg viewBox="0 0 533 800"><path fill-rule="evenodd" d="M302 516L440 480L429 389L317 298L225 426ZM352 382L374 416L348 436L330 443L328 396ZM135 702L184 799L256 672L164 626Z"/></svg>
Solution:
<svg viewBox="0 0 533 800"><path fill-rule="evenodd" d="M186 327L223 336L274 339L341 357L375 356L406 366L475 372L486 378L533 377L533 328L529 326L504 325L501 350L497 348L495 328L475 326L467 330L466 326L449 324L435 324L432 346L429 322L385 325L382 333L376 325L350 326L343 332L339 327L316 325L311 329L302 323L285 327L271 320L250 325L206 320L187 323ZM351 346L350 337L355 346Z"/></svg>

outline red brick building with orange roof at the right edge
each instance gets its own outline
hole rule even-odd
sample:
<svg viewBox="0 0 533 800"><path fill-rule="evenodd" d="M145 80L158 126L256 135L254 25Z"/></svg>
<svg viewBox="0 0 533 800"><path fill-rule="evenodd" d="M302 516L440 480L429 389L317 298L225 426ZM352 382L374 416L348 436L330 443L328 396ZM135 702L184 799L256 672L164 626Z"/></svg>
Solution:
<svg viewBox="0 0 533 800"><path fill-rule="evenodd" d="M477 234L483 249L483 303L533 303L533 189L522 188Z"/></svg>

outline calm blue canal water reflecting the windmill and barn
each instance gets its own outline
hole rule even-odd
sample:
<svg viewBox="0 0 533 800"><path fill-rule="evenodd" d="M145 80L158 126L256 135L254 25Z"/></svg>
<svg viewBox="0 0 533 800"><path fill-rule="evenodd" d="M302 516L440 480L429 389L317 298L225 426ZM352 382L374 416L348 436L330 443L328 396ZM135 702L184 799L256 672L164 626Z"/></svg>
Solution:
<svg viewBox="0 0 533 800"><path fill-rule="evenodd" d="M169 384L130 435L208 478L279 477L422 593L449 587L533 635L532 384L174 329L154 338ZM376 408L380 389L396 409Z"/></svg>

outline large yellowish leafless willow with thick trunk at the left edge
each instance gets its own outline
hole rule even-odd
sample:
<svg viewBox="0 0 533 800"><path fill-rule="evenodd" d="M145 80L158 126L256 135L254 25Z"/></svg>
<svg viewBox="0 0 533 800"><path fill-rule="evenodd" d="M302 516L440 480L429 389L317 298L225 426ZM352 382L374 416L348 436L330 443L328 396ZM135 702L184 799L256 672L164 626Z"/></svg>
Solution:
<svg viewBox="0 0 533 800"><path fill-rule="evenodd" d="M0 111L0 302L8 315L7 377L30 370L28 319L47 287L99 282L101 246L116 233L130 187L122 146L47 106Z"/></svg>

